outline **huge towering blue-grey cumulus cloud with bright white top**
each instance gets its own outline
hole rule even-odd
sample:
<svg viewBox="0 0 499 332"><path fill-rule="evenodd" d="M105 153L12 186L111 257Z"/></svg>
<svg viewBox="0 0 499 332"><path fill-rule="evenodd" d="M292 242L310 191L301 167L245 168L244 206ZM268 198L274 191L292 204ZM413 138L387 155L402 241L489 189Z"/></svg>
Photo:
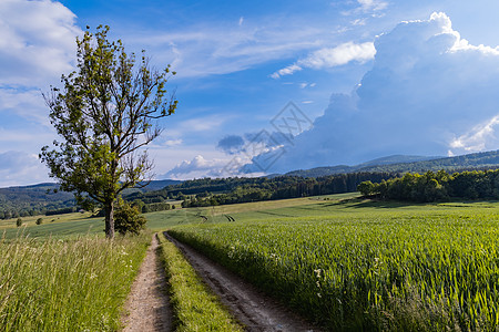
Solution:
<svg viewBox="0 0 499 332"><path fill-rule="evenodd" d="M470 44L445 13L401 22L375 48L358 86L333 94L272 172L499 148L498 49Z"/></svg>

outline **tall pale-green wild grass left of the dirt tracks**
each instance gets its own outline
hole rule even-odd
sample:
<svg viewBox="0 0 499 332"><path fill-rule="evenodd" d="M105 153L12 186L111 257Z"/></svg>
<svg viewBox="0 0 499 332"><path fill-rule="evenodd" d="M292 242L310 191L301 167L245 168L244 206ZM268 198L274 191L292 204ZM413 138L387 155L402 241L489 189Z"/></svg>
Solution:
<svg viewBox="0 0 499 332"><path fill-rule="evenodd" d="M0 241L0 330L118 330L150 239Z"/></svg>

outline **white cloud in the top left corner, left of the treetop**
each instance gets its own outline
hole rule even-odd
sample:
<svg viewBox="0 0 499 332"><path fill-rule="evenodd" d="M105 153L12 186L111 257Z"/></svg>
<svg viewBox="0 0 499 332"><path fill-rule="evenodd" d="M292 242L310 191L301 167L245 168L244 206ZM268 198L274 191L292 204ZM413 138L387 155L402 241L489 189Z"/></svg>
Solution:
<svg viewBox="0 0 499 332"><path fill-rule="evenodd" d="M75 15L50 0L0 1L0 85L44 86L72 69Z"/></svg>

